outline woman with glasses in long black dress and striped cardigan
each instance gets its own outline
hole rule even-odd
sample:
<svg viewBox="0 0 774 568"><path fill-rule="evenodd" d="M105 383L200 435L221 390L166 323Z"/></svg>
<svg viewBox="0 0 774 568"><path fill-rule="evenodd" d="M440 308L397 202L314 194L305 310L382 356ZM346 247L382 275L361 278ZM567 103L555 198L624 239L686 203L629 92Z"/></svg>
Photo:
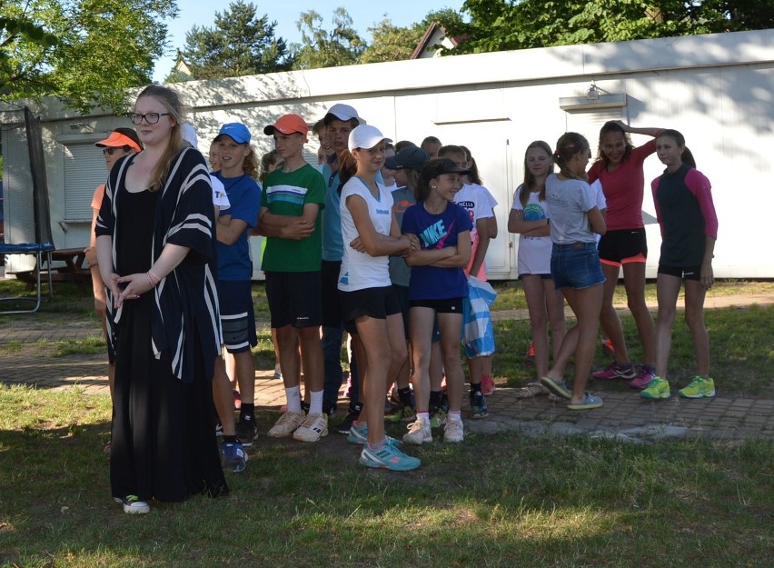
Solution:
<svg viewBox="0 0 774 568"><path fill-rule="evenodd" d="M115 164L95 233L116 354L110 480L126 513L227 493L212 424L221 334L212 189L178 95L150 85L130 115L144 154Z"/></svg>

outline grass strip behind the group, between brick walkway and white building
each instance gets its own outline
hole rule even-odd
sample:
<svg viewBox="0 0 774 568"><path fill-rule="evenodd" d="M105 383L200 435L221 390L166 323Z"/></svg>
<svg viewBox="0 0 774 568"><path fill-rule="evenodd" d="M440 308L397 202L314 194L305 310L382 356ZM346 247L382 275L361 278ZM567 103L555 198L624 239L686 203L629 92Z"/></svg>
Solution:
<svg viewBox="0 0 774 568"><path fill-rule="evenodd" d="M493 310L526 309L521 285L495 284L498 298ZM23 284L15 281L0 281L0 296L15 294L24 289ZM73 284L57 284L54 302L44 303L39 314L15 314L0 316L0 325L89 325L98 334L98 324L94 314L94 302L90 293ZM709 297L732 294L772 294L774 283L770 282L721 282L712 287ZM617 290L617 301L625 302L622 286ZM655 285L648 284L647 294L655 296ZM253 304L259 322L259 342L253 349L256 367L272 369L274 353L271 335L268 329L269 311L263 284L253 284ZM724 394L760 396L768 394L774 397L774 336L770 333L771 321L774 321L774 304L754 305L743 308L723 308L706 310L706 324L710 333L711 364L710 369L716 378L718 387ZM621 317L630 358L638 363L642 351L634 320L624 311ZM494 354L493 371L498 384L522 386L535 380L533 367L523 364L523 357L530 341L530 326L526 320L505 320L494 323L497 337L497 352ZM670 379L685 383L695 373L693 349L690 335L680 315L675 320L674 343L670 357ZM27 347L38 349L52 356L65 354L99 353L103 341L99 337L89 337L80 341L49 342ZM46 351L46 347L48 350ZM3 353L17 353L24 345L9 343L0 345ZM601 350L597 351L594 368L598 369L610 361ZM571 376L572 366L566 375ZM627 390L625 382L606 384L606 388Z"/></svg>

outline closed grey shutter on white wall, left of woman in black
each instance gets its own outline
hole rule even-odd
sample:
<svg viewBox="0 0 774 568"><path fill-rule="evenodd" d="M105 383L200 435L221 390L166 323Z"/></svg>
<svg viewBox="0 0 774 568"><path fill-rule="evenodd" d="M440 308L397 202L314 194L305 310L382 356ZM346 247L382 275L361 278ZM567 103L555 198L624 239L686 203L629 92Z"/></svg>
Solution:
<svg viewBox="0 0 774 568"><path fill-rule="evenodd" d="M91 221L94 188L106 180L100 148L94 143L65 144L65 220Z"/></svg>

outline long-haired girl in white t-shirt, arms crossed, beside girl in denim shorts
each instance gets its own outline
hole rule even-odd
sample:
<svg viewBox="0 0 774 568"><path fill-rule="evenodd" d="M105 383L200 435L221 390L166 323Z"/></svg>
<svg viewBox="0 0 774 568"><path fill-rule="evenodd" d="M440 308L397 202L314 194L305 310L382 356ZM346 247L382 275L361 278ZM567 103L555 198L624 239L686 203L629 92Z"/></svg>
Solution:
<svg viewBox="0 0 774 568"><path fill-rule="evenodd" d="M524 183L513 196L508 231L519 233L518 271L530 311L535 370L539 377L549 370L548 323L551 323L553 358L567 327L564 298L551 278L551 225L546 203L546 177L553 172L551 146L537 140L524 154Z"/></svg>

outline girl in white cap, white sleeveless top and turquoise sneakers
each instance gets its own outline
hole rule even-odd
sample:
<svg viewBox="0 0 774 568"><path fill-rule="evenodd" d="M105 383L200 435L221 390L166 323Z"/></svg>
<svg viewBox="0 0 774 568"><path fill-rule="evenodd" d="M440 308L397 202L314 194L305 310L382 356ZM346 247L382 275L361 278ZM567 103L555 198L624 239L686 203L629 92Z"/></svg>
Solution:
<svg viewBox="0 0 774 568"><path fill-rule="evenodd" d="M392 213L392 194L376 181L387 142L390 139L371 125L357 126L350 133L349 150L357 169L342 187L339 211L344 251L338 288L343 320L348 326L354 324L366 360L362 365L358 358L364 375L364 406L352 423L349 441L362 444L362 465L408 471L419 467L420 461L398 450L397 442L384 433L387 381L398 374L408 356L388 257L412 249L412 239L401 234Z"/></svg>

